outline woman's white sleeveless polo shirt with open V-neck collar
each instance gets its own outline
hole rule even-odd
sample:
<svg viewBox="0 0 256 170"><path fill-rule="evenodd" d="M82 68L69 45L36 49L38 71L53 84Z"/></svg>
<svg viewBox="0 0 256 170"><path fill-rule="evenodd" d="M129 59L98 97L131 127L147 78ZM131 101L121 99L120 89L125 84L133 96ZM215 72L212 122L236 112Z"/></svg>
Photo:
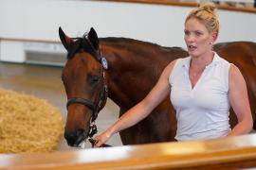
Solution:
<svg viewBox="0 0 256 170"><path fill-rule="evenodd" d="M226 136L230 131L230 63L215 53L192 89L190 62L191 57L177 59L169 77L177 119L175 139L192 141Z"/></svg>

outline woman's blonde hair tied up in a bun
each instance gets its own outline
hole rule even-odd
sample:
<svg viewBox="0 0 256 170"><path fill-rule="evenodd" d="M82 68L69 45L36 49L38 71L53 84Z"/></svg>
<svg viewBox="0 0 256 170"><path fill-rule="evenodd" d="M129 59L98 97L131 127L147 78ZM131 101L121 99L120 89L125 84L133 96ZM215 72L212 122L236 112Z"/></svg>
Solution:
<svg viewBox="0 0 256 170"><path fill-rule="evenodd" d="M213 3L206 3L199 8L192 9L185 23L191 18L202 22L210 32L219 32L219 21L216 15L216 7Z"/></svg>

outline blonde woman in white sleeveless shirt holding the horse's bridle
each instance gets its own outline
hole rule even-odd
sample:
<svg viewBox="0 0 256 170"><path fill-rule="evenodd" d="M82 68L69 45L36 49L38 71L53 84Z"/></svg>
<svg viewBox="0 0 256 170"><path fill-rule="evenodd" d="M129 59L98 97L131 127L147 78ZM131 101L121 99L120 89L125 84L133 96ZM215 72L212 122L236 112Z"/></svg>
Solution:
<svg viewBox="0 0 256 170"><path fill-rule="evenodd" d="M114 133L144 119L171 93L176 110L177 141L245 134L252 128L247 85L239 69L212 51L219 32L213 4L193 9L185 21L184 40L190 57L172 61L153 90L111 127L96 136L96 147ZM230 129L230 105L238 124Z"/></svg>

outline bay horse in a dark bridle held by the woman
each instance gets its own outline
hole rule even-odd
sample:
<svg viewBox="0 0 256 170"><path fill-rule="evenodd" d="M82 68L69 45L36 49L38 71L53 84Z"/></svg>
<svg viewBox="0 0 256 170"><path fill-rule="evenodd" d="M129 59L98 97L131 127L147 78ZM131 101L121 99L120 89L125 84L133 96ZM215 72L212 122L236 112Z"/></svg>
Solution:
<svg viewBox="0 0 256 170"><path fill-rule="evenodd" d="M59 35L67 50L62 74L68 100L64 137L71 146L78 146L95 133L92 123L107 96L119 106L121 116L151 91L168 63L188 56L187 51L179 47L127 38L98 38L93 28L81 38L70 38L60 27ZM256 43L219 43L214 50L237 65L245 76L254 119ZM236 123L236 116L230 110L231 127ZM174 141L175 131L174 108L166 97L148 117L119 134L122 144L148 144Z"/></svg>

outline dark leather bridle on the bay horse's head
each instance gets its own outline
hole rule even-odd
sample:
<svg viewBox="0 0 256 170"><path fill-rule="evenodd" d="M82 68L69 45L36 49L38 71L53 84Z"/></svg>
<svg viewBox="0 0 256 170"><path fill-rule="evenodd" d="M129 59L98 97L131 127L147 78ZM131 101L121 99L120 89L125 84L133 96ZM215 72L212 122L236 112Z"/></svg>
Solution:
<svg viewBox="0 0 256 170"><path fill-rule="evenodd" d="M104 70L107 69L107 61L105 58L101 56L101 49L100 54L97 52L97 50L93 47L92 43L85 37L83 36L82 38L74 38L77 39L75 43L77 45L71 46L70 49L68 49L68 56L69 55L74 55L80 48L82 48L83 51L88 50L88 45L91 50L91 55L101 63L101 82L102 82L102 87L101 87L101 93L99 96L98 102L92 102L89 99L82 98L82 97L71 97L67 100L66 103L66 109L68 109L68 106L72 104L82 104L83 106L87 107L89 110L92 110L92 117L90 120L90 127L89 127L89 132L88 136L92 137L94 134L97 133L97 126L95 125L95 120L98 117L99 111L104 107L106 100L107 100L107 85L105 84L105 73ZM72 54L70 54L70 52Z"/></svg>

